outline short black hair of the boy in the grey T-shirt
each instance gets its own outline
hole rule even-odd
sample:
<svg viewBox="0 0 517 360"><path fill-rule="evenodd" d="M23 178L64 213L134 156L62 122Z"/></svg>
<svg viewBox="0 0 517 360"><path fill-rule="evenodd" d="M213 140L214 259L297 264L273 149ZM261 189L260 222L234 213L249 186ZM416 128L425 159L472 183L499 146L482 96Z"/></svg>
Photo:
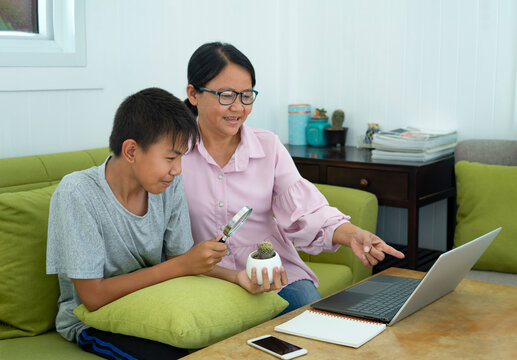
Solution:
<svg viewBox="0 0 517 360"><path fill-rule="evenodd" d="M115 156L122 152L127 139L135 140L147 150L162 136L170 136L172 144L188 146L199 137L196 119L185 104L168 91L148 88L128 96L120 104L109 143Z"/></svg>

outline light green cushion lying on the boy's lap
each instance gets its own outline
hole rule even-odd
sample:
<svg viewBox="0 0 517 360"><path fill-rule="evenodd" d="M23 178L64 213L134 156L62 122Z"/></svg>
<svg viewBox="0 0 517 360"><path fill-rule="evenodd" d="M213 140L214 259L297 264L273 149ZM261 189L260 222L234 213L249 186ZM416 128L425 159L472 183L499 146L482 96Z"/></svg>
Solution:
<svg viewBox="0 0 517 360"><path fill-rule="evenodd" d="M287 307L277 293L252 295L233 283L185 276L74 314L100 330L196 349L270 320Z"/></svg>

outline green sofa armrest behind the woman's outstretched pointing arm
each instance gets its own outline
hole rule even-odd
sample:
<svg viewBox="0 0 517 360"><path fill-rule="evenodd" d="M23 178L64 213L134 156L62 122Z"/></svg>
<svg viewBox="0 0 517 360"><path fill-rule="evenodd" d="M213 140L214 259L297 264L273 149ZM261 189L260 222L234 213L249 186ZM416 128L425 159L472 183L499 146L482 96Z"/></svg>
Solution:
<svg viewBox="0 0 517 360"><path fill-rule="evenodd" d="M350 221L362 229L375 234L377 227L378 202L377 197L369 192L334 185L314 184L327 198L330 206L336 207L342 213L351 217ZM372 269L364 267L353 251L340 247L336 252L323 252L318 255L309 255L299 252L304 261L342 264L352 269L353 283L371 275Z"/></svg>

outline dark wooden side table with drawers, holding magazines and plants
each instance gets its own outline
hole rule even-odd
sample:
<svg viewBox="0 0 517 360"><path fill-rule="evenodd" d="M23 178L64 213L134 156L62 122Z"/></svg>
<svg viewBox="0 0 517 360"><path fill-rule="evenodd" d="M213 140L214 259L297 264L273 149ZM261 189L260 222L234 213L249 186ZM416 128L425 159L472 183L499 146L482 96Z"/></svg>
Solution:
<svg viewBox="0 0 517 360"><path fill-rule="evenodd" d="M419 208L447 199L447 249L452 248L456 214L454 156L426 162L373 160L369 149L286 145L307 180L374 193L379 205L408 209L407 262L418 265Z"/></svg>

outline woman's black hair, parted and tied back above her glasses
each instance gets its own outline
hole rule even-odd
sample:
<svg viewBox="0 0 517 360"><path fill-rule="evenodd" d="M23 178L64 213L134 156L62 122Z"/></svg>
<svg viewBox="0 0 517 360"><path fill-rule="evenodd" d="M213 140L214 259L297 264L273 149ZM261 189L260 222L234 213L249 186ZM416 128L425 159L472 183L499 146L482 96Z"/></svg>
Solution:
<svg viewBox="0 0 517 360"><path fill-rule="evenodd" d="M255 69L251 61L235 46L221 42L203 44L194 51L188 62L188 83L199 90L219 75L229 63L246 69L251 76L251 87L255 87ZM189 99L185 100L185 104L194 115L197 115L197 108L190 103Z"/></svg>

